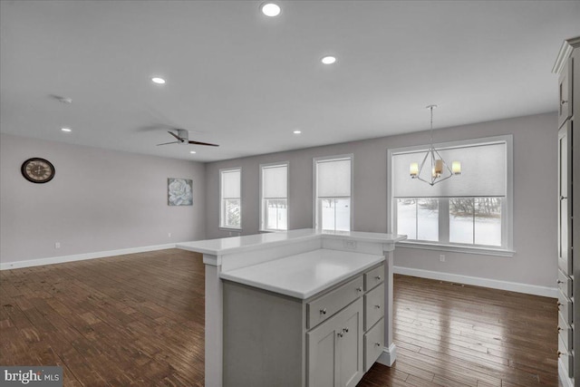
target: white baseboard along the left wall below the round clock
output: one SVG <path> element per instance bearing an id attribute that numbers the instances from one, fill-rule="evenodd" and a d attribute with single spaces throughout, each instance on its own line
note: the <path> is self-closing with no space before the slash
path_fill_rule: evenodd
<path id="1" fill-rule="evenodd" d="M 83 261 L 85 259 L 104 258 L 105 256 L 122 256 L 124 254 L 145 253 L 148 251 L 174 248 L 175 243 L 167 245 L 121 248 L 119 250 L 98 251 L 94 253 L 74 254 L 72 256 L 52 256 L 49 258 L 30 259 L 27 261 L 0 262 L 0 270 L 18 269 L 22 267 L 62 264 L 64 262 Z"/>

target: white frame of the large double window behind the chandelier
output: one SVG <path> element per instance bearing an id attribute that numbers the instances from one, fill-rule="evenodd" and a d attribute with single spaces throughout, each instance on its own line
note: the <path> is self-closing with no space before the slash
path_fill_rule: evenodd
<path id="1" fill-rule="evenodd" d="M 462 245 L 462 244 L 452 244 L 452 243 L 441 243 L 441 242 L 430 242 L 430 241 L 418 241 L 418 240 L 403 240 L 398 243 L 400 247 L 411 247 L 411 248 L 422 248 L 427 250 L 437 250 L 437 251 L 451 251 L 459 253 L 469 253 L 469 254 L 480 254 L 487 256 L 514 256 L 516 253 L 513 249 L 513 235 L 514 235 L 514 162 L 513 162 L 513 136 L 503 135 L 494 136 L 487 138 L 471 139 L 471 140 L 458 140 L 458 141 L 448 141 L 434 144 L 435 148 L 445 149 L 445 148 L 463 148 L 474 145 L 483 145 L 486 143 L 493 142 L 505 142 L 506 143 L 506 197 L 502 202 L 501 208 L 501 232 L 502 232 L 502 247 L 488 247 L 480 245 Z M 397 206 L 395 205 L 393 199 L 393 188 L 392 188 L 392 176 L 394 171 L 392 170 L 392 157 L 395 154 L 427 150 L 429 145 L 419 145 L 412 147 L 404 147 L 397 149 L 387 150 L 387 208 L 389 209 L 387 216 L 387 232 L 395 234 L 397 232 L 396 219 L 397 219 Z M 411 179 L 411 177 L 409 178 Z M 453 179 L 453 178 L 451 178 Z M 427 184 L 427 183 L 425 183 Z M 444 182 L 441 184 L 445 184 Z M 443 203 L 443 206 L 441 206 Z M 440 199 L 440 209 L 439 209 L 439 224 L 444 224 L 447 222 L 449 224 L 449 198 Z M 444 231 L 441 233 L 441 231 Z M 441 235 L 446 240 L 449 240 L 449 229 L 447 227 L 439 228 L 440 240 Z"/>

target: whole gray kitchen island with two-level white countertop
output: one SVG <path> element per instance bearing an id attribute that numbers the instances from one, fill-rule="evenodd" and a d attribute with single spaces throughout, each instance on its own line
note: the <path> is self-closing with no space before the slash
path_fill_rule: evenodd
<path id="1" fill-rule="evenodd" d="M 206 265 L 206 386 L 355 385 L 391 365 L 404 236 L 300 229 L 178 244 Z"/>

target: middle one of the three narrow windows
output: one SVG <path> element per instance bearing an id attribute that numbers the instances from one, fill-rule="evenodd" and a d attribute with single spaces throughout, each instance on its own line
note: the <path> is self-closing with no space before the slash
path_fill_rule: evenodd
<path id="1" fill-rule="evenodd" d="M 288 229 L 288 163 L 260 166 L 260 229 Z"/>

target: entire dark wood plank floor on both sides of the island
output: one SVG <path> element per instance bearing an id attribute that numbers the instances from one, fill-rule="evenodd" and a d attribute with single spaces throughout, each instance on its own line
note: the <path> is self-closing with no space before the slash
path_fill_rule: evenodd
<path id="1" fill-rule="evenodd" d="M 397 362 L 360 387 L 557 386 L 556 300 L 395 277 Z M 204 268 L 177 249 L 0 272 L 0 364 L 203 386 Z"/>

